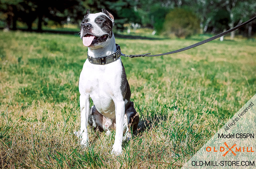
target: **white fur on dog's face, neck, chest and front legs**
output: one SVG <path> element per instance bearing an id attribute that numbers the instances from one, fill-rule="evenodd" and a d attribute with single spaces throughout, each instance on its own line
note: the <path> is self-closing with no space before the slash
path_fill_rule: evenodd
<path id="1" fill-rule="evenodd" d="M 98 31 L 98 34 L 101 34 L 102 30 L 97 28 L 93 23 L 95 17 L 98 15 L 102 15 L 102 13 L 90 14 L 89 18 L 90 23 L 94 25 L 95 32 Z M 116 52 L 115 44 L 116 43 L 113 35 L 112 38 L 102 42 L 97 46 L 97 48 L 89 47 L 88 54 L 89 56 L 95 58 L 111 55 Z M 91 64 L 87 59 L 83 65 L 83 70 L 79 79 L 81 144 L 88 144 L 87 124 L 91 98 L 99 113 L 110 119 L 116 118 L 116 135 L 112 149 L 112 153 L 116 155 L 122 152 L 125 114 L 125 101 L 123 100 L 120 89 L 121 71 L 121 58 L 117 59 L 115 62 L 105 65 Z"/>

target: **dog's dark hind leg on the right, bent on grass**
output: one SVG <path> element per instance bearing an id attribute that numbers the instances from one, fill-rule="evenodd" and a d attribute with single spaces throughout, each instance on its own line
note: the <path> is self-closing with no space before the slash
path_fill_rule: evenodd
<path id="1" fill-rule="evenodd" d="M 130 102 L 127 106 L 127 109 L 125 110 L 124 115 L 124 137 L 123 140 L 131 139 L 132 134 L 137 129 L 137 126 L 139 124 L 139 115 L 134 109 L 133 102 Z M 131 132 L 132 131 L 132 132 Z"/>

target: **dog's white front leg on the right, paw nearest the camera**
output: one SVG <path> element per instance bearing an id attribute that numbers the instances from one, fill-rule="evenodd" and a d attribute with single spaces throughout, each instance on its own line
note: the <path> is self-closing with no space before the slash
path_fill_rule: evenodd
<path id="1" fill-rule="evenodd" d="M 112 153 L 119 155 L 122 153 L 125 102 L 121 100 L 121 101 L 116 101 L 114 103 L 115 103 L 115 111 L 116 111 L 116 136 L 115 136 Z"/>

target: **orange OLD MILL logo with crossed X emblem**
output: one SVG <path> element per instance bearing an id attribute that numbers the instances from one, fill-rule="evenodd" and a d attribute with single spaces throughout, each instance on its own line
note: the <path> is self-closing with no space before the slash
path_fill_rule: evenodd
<path id="1" fill-rule="evenodd" d="M 224 145 L 227 147 L 226 148 L 226 152 L 223 154 L 223 157 L 225 157 L 227 155 L 227 153 L 231 152 L 234 156 L 236 156 L 237 154 L 235 152 L 254 152 L 252 150 L 252 147 L 236 147 L 236 144 L 234 144 L 233 146 L 231 146 L 229 148 L 229 146 L 227 145 L 226 142 L 224 142 Z M 233 148 L 236 147 L 236 149 L 234 150 Z M 233 149 L 233 150 L 232 150 Z M 212 148 L 211 147 L 207 147 L 206 151 L 207 152 L 211 152 Z M 219 147 L 219 152 L 224 152 L 225 148 L 224 147 Z M 213 147 L 213 152 L 218 152 L 218 149 L 215 149 L 215 147 Z"/>

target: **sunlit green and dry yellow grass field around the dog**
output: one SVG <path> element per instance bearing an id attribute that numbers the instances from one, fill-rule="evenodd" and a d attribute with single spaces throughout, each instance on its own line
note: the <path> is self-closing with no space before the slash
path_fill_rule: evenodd
<path id="1" fill-rule="evenodd" d="M 116 42 L 125 54 L 158 54 L 203 38 Z M 86 149 L 73 134 L 86 51 L 79 36 L 0 32 L 0 168 L 180 168 L 256 93 L 252 40 L 122 58 L 140 129 L 114 157 L 114 132 L 89 130 Z"/>

